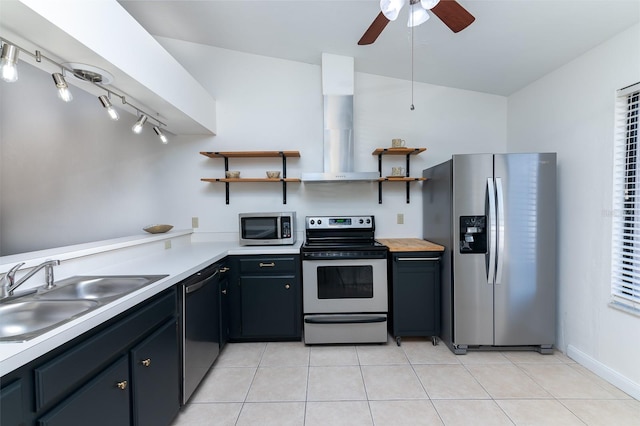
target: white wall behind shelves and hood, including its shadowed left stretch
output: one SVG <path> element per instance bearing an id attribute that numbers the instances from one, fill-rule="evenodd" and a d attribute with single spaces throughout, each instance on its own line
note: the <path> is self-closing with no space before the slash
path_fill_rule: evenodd
<path id="1" fill-rule="evenodd" d="M 0 85 L 0 253 L 135 234 L 149 223 L 184 229 L 192 217 L 198 231 L 236 232 L 243 211 L 294 210 L 300 226 L 308 214 L 375 214 L 379 237 L 422 236 L 420 183 L 410 204 L 404 184 L 385 184 L 378 204 L 377 183 L 294 183 L 286 205 L 279 184 L 231 184 L 225 205 L 223 184 L 200 181 L 222 177 L 224 162 L 200 151 L 298 150 L 290 177 L 322 169 L 320 67 L 160 41 L 217 99 L 218 136 L 172 136 L 161 145 L 150 127 L 133 135 L 129 114 L 106 119 L 81 90 L 60 102 L 51 76 L 21 66 L 18 83 Z M 412 158 L 413 176 L 453 153 L 506 148 L 504 97 L 416 83 L 410 111 L 410 82 L 360 73 L 355 80 L 356 170 L 377 170 L 371 153 L 396 137 L 427 148 Z M 278 159 L 230 161 L 245 177 L 281 167 Z M 385 157 L 383 173 L 403 164 Z"/>

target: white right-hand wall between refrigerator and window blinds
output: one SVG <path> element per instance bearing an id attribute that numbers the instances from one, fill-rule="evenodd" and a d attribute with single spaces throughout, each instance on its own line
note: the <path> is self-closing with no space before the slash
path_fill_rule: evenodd
<path id="1" fill-rule="evenodd" d="M 640 397 L 640 317 L 608 307 L 616 89 L 640 80 L 640 26 L 508 100 L 510 151 L 558 153 L 559 344 Z"/>

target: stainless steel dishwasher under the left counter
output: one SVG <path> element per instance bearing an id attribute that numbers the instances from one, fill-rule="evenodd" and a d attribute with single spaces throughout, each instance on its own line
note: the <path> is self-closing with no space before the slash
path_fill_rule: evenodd
<path id="1" fill-rule="evenodd" d="M 220 283 L 227 270 L 215 263 L 181 282 L 182 404 L 220 353 Z"/>

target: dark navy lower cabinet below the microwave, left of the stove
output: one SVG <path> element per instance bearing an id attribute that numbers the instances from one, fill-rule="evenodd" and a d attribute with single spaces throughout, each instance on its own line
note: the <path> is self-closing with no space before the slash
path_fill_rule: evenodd
<path id="1" fill-rule="evenodd" d="M 300 340 L 300 256 L 233 256 L 229 339 Z"/>

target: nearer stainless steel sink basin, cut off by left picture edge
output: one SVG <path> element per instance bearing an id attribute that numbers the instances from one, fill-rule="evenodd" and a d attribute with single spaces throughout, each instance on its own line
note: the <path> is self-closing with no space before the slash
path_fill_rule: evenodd
<path id="1" fill-rule="evenodd" d="M 95 300 L 28 300 L 0 304 L 0 341 L 24 341 L 97 308 Z"/>

